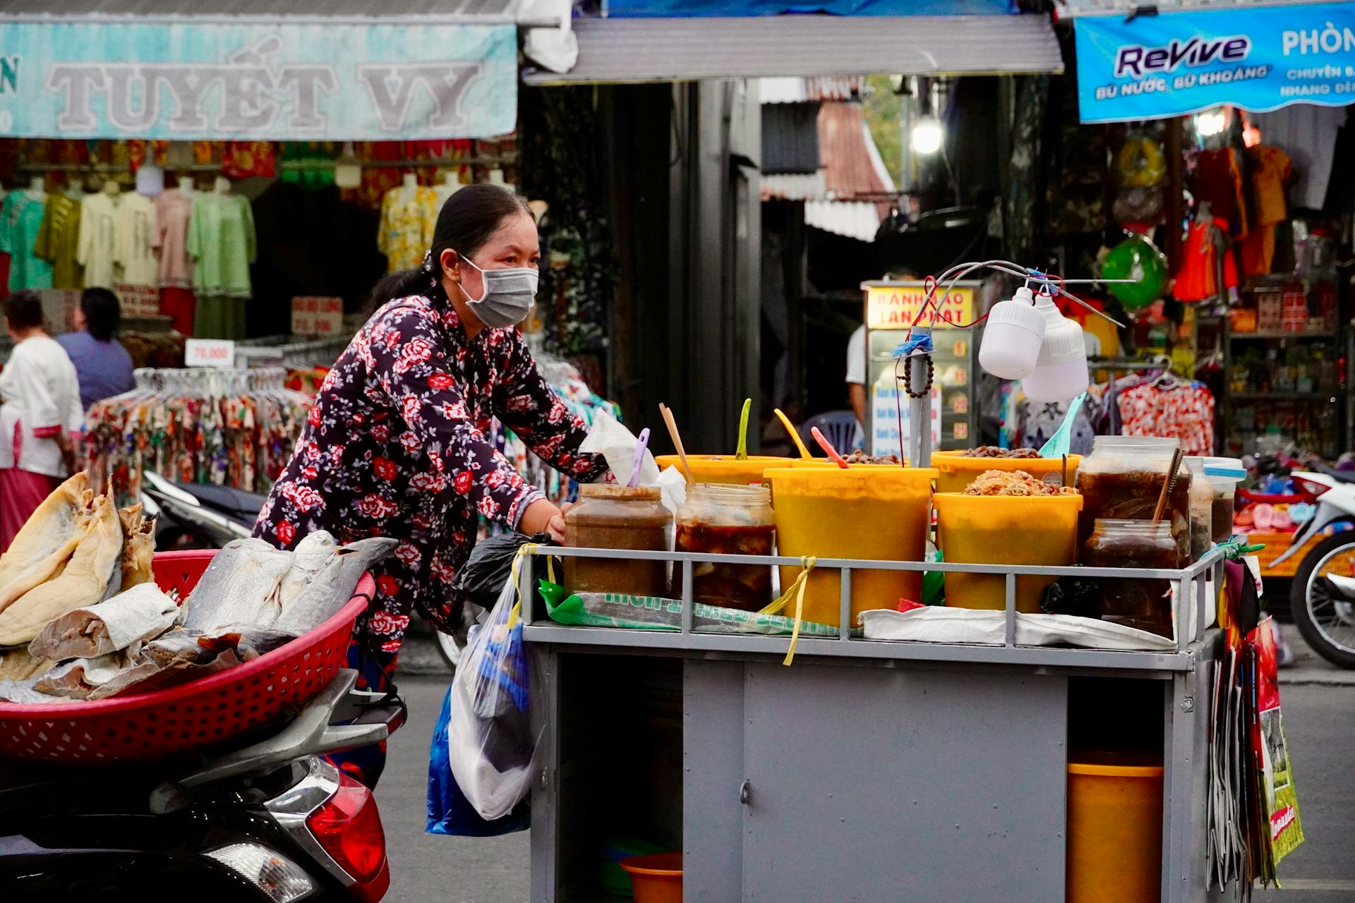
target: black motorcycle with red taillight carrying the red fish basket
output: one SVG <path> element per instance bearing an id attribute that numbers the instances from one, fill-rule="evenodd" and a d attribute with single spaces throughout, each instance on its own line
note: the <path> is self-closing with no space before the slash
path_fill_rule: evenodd
<path id="1" fill-rule="evenodd" d="M 283 728 L 175 761 L 0 762 L 0 899 L 379 900 L 390 885 L 371 792 L 324 755 L 379 743 L 394 695 L 340 670 Z"/>

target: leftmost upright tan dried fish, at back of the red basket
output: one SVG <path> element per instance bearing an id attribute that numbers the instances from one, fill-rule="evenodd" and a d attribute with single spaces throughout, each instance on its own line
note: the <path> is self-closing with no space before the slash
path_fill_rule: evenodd
<path id="1" fill-rule="evenodd" d="M 57 574 L 84 535 L 88 478 L 80 472 L 38 505 L 0 555 L 0 612 Z"/>

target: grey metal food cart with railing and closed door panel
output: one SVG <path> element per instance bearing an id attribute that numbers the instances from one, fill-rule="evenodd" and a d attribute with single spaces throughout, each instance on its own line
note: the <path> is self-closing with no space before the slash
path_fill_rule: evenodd
<path id="1" fill-rule="evenodd" d="M 692 562 L 799 563 L 625 556 L 675 562 L 686 588 Z M 1202 624 L 1220 552 L 1184 571 L 818 567 L 844 574 L 843 624 L 852 570 L 1008 574 L 1007 643 L 879 642 L 843 628 L 840 639 L 801 638 L 785 666 L 787 638 L 691 632 L 690 589 L 682 632 L 566 627 L 524 605 L 543 728 L 534 902 L 611 899 L 598 889 L 599 849 L 638 824 L 680 838 L 690 902 L 1062 900 L 1068 753 L 1088 707 L 1100 726 L 1123 723 L 1160 749 L 1161 899 L 1211 899 L 1206 750 L 1218 631 L 1196 628 L 1161 653 L 1019 647 L 1012 638 L 1016 574 L 1169 577 L 1176 623 L 1187 623 L 1182 600 L 1194 600 Z M 533 567 L 522 570 L 531 586 Z"/>

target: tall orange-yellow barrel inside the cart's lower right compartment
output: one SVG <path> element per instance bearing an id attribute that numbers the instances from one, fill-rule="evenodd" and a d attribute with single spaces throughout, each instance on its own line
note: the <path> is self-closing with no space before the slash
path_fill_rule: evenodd
<path id="1" fill-rule="evenodd" d="M 1160 765 L 1068 764 L 1065 883 L 1066 903 L 1161 900 Z"/>

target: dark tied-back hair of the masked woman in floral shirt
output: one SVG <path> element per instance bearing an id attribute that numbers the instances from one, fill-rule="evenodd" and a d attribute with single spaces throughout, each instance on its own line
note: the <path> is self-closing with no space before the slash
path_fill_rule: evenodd
<path id="1" fill-rule="evenodd" d="M 438 214 L 430 248 L 432 269 L 402 269 L 383 276 L 371 290 L 371 310 L 394 298 L 427 294 L 430 282 L 442 273 L 443 250 L 451 248 L 461 257 L 474 257 L 505 219 L 523 213 L 531 215 L 527 200 L 507 188 L 488 183 L 461 188 Z"/>

